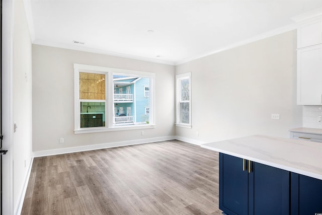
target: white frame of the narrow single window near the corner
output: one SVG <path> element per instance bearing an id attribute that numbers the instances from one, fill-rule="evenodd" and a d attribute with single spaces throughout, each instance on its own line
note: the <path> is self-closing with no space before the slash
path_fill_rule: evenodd
<path id="1" fill-rule="evenodd" d="M 181 92 L 180 92 L 180 81 L 184 79 L 189 79 L 189 123 L 180 122 L 180 103 L 181 101 Z M 176 75 L 176 126 L 192 128 L 191 123 L 191 72 Z"/>

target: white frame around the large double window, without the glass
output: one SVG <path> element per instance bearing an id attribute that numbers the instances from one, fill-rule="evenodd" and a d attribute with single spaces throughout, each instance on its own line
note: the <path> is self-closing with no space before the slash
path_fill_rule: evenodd
<path id="1" fill-rule="evenodd" d="M 103 66 L 93 66 L 93 65 L 85 65 L 74 63 L 74 133 L 93 133 L 93 132 L 105 132 L 105 131 L 116 131 L 116 130 L 133 130 L 133 129 L 145 129 L 145 128 L 154 128 L 154 116 L 155 116 L 155 74 L 149 73 L 146 71 L 136 71 L 136 70 L 128 70 L 128 69 L 119 69 L 119 68 L 109 68 Z M 105 74 L 105 92 L 106 92 L 106 100 L 105 100 L 105 126 L 102 127 L 86 127 L 81 128 L 81 108 L 80 108 L 80 100 L 79 100 L 79 73 L 80 72 L 92 72 L 92 73 L 101 73 Z M 114 119 L 114 87 L 113 87 L 113 74 L 125 74 L 132 75 L 136 77 L 149 78 L 150 79 L 150 116 L 149 116 L 149 124 L 134 124 L 134 125 L 124 125 L 124 126 L 115 126 L 113 123 Z M 93 100 L 94 101 L 94 100 Z"/>

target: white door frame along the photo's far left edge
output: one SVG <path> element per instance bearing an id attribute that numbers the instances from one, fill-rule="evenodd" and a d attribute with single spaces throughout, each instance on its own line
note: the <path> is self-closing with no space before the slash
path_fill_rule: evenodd
<path id="1" fill-rule="evenodd" d="M 13 0 L 2 2 L 2 133 L 3 149 L 8 153 L 2 157 L 2 213 L 14 214 L 13 196 Z"/>

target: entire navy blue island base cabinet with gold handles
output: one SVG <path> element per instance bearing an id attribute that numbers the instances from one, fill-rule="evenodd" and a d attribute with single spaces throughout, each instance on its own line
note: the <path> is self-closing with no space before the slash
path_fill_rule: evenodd
<path id="1" fill-rule="evenodd" d="M 322 180 L 219 153 L 219 209 L 227 215 L 322 214 Z"/>

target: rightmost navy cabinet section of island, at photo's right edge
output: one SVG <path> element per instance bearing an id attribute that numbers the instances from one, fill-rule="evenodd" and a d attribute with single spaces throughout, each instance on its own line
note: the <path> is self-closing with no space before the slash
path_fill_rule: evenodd
<path id="1" fill-rule="evenodd" d="M 292 173 L 291 215 L 322 213 L 322 180 Z"/>

